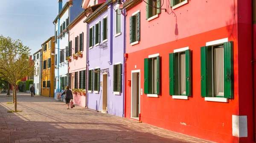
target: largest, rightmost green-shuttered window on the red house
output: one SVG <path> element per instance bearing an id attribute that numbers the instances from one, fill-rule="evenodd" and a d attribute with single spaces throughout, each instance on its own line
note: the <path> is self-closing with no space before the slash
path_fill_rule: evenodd
<path id="1" fill-rule="evenodd" d="M 233 98 L 233 42 L 201 47 L 201 96 Z"/>

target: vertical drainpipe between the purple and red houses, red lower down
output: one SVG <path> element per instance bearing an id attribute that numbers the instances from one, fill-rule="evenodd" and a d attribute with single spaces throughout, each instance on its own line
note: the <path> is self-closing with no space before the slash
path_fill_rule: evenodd
<path id="1" fill-rule="evenodd" d="M 125 54 L 125 45 L 126 45 L 126 40 L 125 40 L 125 31 L 126 31 L 126 28 L 125 28 L 125 26 L 126 26 L 126 16 L 125 16 L 125 13 L 126 13 L 126 11 L 125 11 L 125 8 L 123 9 L 124 11 L 123 11 L 123 13 L 124 13 L 124 54 Z M 125 67 L 124 67 L 124 81 L 123 81 L 123 87 L 124 87 L 124 89 L 125 89 L 125 92 L 124 92 L 124 98 L 123 98 L 123 102 L 124 102 L 124 118 L 126 117 L 126 103 L 125 103 L 125 101 L 126 101 L 126 60 L 127 60 L 127 58 L 125 57 L 124 58 L 124 64 L 125 64 Z"/>

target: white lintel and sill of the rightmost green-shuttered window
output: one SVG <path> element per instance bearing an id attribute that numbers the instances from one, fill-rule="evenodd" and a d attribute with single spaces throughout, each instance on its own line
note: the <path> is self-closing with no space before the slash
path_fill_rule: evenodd
<path id="1" fill-rule="evenodd" d="M 206 42 L 206 46 L 214 46 L 214 45 L 220 45 L 224 42 L 228 42 L 228 38 L 218 39 L 210 42 Z M 224 97 L 204 97 L 205 101 L 214 101 L 214 102 L 228 102 L 227 98 Z"/>

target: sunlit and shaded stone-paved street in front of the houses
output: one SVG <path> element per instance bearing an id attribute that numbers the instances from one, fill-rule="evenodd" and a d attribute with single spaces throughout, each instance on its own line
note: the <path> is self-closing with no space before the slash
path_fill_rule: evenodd
<path id="1" fill-rule="evenodd" d="M 0 143 L 212 143 L 145 123 L 27 93 L 0 94 Z"/>

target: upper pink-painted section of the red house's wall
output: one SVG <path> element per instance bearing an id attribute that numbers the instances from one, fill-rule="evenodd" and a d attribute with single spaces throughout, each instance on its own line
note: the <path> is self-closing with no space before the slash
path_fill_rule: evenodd
<path id="1" fill-rule="evenodd" d="M 175 10 L 170 8 L 169 0 L 164 1 L 158 18 L 146 20 L 146 3 L 139 3 L 127 11 L 126 31 L 129 31 L 129 17 L 140 9 L 141 35 L 140 44 L 129 44 L 129 32 L 126 33 L 126 53 L 131 53 L 156 45 L 172 42 L 192 35 L 204 33 L 217 28 L 233 25 L 234 1 L 233 0 L 188 0 L 189 3 Z M 235 0 L 235 6 L 237 5 Z M 163 1 L 162 1 L 163 2 Z M 236 17 L 237 9 L 235 8 Z M 203 17 L 203 18 L 202 18 Z M 177 23 L 177 28 L 175 25 Z M 237 23 L 237 18 L 235 23 Z M 231 33 L 232 26 L 227 31 Z"/>

